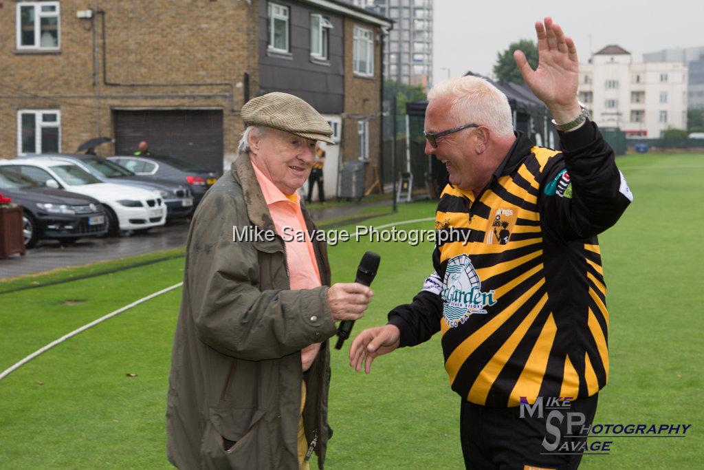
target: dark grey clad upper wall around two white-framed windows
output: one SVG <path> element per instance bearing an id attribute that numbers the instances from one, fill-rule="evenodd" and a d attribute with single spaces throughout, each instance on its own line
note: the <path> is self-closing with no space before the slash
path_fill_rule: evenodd
<path id="1" fill-rule="evenodd" d="M 292 1 L 274 3 L 289 7 L 290 54 L 268 51 L 268 1 L 259 4 L 261 92 L 288 92 L 305 99 L 321 113 L 340 114 L 344 99 L 344 21 L 339 14 Z M 310 14 L 320 13 L 330 20 L 329 60 L 310 56 Z"/>

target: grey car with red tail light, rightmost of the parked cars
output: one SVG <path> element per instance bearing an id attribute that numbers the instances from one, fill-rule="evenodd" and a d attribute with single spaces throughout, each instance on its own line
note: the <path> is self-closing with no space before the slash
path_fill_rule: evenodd
<path id="1" fill-rule="evenodd" d="M 195 163 L 175 159 L 170 156 L 108 156 L 108 160 L 124 166 L 137 175 L 152 176 L 157 179 L 185 181 L 193 193 L 194 206 L 203 199 L 210 186 L 218 180 L 218 173 L 199 168 Z"/>

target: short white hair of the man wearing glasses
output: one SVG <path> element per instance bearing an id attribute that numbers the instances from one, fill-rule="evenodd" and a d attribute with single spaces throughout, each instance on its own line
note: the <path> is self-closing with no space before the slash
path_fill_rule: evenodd
<path id="1" fill-rule="evenodd" d="M 513 114 L 508 98 L 481 77 L 467 75 L 440 82 L 428 92 L 428 99 L 451 97 L 451 113 L 467 120 L 459 124 L 484 125 L 500 137 L 513 135 Z"/>

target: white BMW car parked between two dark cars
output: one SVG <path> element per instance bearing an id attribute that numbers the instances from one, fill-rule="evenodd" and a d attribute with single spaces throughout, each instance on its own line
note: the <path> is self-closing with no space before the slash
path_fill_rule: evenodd
<path id="1" fill-rule="evenodd" d="M 108 216 L 108 233 L 120 230 L 146 232 L 166 223 L 166 205 L 161 194 L 134 186 L 101 183 L 82 168 L 65 161 L 46 159 L 3 160 L 15 173 L 31 178 L 46 187 L 85 194 L 98 199 Z"/>

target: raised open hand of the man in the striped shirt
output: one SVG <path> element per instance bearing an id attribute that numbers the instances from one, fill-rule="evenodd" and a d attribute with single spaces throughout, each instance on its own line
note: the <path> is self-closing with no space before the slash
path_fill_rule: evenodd
<path id="1" fill-rule="evenodd" d="M 513 58 L 523 75 L 526 85 L 548 106 L 558 123 L 567 123 L 581 111 L 577 102 L 579 61 L 577 48 L 571 37 L 549 16 L 544 24 L 535 23 L 538 35 L 538 68 L 533 70 L 522 51 L 515 51 Z"/>

